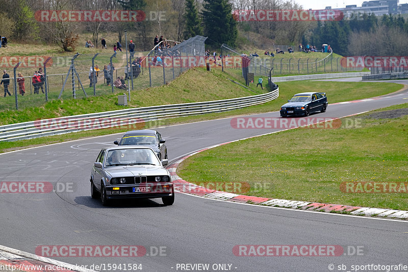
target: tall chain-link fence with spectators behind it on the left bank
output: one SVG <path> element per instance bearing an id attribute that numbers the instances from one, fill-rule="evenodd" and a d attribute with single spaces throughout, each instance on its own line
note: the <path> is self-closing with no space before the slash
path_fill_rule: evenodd
<path id="1" fill-rule="evenodd" d="M 6 93 L 0 100 L 0 110 L 38 107 L 57 99 L 129 94 L 131 90 L 167 84 L 187 69 L 200 65 L 188 58 L 204 58 L 205 40 L 206 37 L 196 36 L 182 43 L 167 42 L 149 52 L 127 52 L 129 59 L 126 48 L 92 55 L 16 57 L 19 65 L 6 68 L 11 95 Z M 126 86 L 117 87 L 118 78 Z"/>

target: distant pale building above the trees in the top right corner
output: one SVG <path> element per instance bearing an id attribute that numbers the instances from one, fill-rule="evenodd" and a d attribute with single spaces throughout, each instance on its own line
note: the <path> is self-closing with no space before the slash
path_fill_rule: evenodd
<path id="1" fill-rule="evenodd" d="M 331 7 L 326 7 L 331 9 Z M 402 4 L 398 6 L 398 0 L 373 0 L 365 1 L 361 7 L 357 5 L 348 5 L 345 8 L 339 8 L 336 10 L 343 11 L 344 17 L 350 18 L 352 14 L 367 13 L 381 16 L 384 14 L 401 14 L 408 13 L 408 4 Z"/>

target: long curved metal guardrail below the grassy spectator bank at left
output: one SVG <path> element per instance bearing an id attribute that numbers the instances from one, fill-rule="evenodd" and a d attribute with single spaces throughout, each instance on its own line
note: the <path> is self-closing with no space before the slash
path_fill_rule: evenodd
<path id="1" fill-rule="evenodd" d="M 137 124 L 141 121 L 146 122 L 188 115 L 235 110 L 266 103 L 274 100 L 278 96 L 279 88 L 264 94 L 231 98 L 227 100 L 132 108 L 14 123 L 11 125 L 0 126 L 0 142 L 87 131 L 96 129 L 95 126 L 98 124 L 99 129 L 112 128 L 120 126 L 121 124 Z M 107 118 L 111 119 L 108 123 L 104 123 Z M 112 122 L 112 120 L 114 121 Z M 81 126 L 79 124 L 81 124 Z M 87 126 L 90 124 L 93 124 L 92 128 Z"/>

